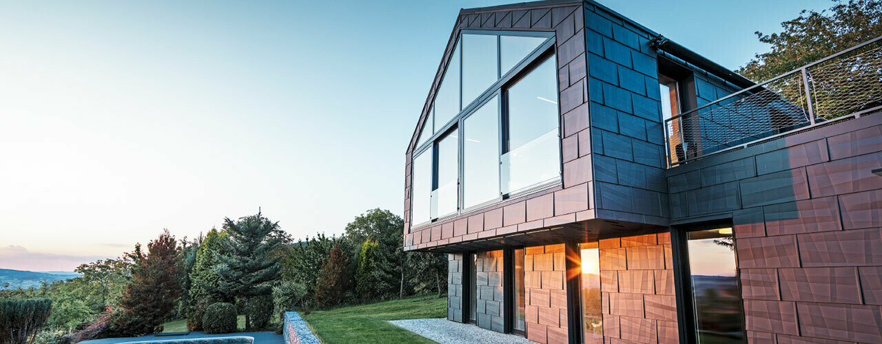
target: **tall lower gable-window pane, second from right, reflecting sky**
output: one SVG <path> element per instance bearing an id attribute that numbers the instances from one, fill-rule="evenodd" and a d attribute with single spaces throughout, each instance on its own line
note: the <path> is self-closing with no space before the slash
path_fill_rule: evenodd
<path id="1" fill-rule="evenodd" d="M 463 208 L 499 198 L 499 118 L 494 97 L 462 125 Z"/>

